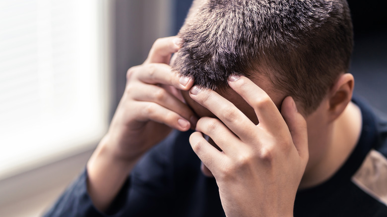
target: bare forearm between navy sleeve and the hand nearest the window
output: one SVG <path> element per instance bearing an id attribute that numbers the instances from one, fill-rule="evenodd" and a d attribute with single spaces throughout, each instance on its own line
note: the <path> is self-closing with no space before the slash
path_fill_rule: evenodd
<path id="1" fill-rule="evenodd" d="M 119 193 L 136 160 L 115 158 L 104 137 L 87 163 L 87 191 L 94 206 L 104 212 Z"/>

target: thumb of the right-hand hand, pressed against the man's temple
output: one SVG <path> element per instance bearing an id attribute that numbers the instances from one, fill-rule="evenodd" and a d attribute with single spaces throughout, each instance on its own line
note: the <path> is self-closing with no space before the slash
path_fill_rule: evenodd
<path id="1" fill-rule="evenodd" d="M 281 112 L 300 157 L 308 161 L 307 124 L 305 118 L 297 111 L 296 104 L 292 97 L 286 97 L 282 102 Z"/>

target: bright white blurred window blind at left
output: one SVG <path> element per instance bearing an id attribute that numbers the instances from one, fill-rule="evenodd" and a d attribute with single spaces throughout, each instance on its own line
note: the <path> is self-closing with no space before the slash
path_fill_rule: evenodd
<path id="1" fill-rule="evenodd" d="M 108 119 L 103 0 L 0 0 L 0 179 L 90 148 Z"/>

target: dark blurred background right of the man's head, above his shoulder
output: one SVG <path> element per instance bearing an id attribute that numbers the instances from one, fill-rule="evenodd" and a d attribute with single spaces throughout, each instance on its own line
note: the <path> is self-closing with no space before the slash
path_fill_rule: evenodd
<path id="1" fill-rule="evenodd" d="M 348 0 L 354 28 L 355 94 L 387 113 L 387 13 L 383 1 Z"/>

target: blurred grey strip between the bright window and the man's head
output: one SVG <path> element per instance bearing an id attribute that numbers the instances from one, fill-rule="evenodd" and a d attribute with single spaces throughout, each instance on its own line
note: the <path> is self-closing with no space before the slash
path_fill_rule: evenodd
<path id="1" fill-rule="evenodd" d="M 174 0 L 116 0 L 115 78 L 112 113 L 122 97 L 127 70 L 141 64 L 157 38 L 171 36 L 174 27 Z"/>

